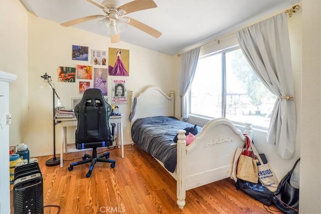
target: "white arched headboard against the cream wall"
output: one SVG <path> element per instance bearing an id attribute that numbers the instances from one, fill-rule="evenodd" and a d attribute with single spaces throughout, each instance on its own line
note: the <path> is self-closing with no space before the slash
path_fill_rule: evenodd
<path id="1" fill-rule="evenodd" d="M 174 91 L 170 96 L 157 86 L 148 86 L 137 96 L 131 91 L 131 108 L 136 97 L 135 114 L 131 120 L 152 116 L 174 116 Z"/>

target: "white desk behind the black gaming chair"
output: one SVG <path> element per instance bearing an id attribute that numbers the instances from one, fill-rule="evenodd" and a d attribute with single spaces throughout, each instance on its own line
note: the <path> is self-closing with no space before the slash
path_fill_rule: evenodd
<path id="1" fill-rule="evenodd" d="M 56 122 L 61 123 L 62 129 L 62 140 L 60 144 L 60 167 L 63 167 L 63 153 L 67 153 L 67 127 L 77 126 L 76 118 L 57 118 Z M 123 142 L 123 127 L 122 127 L 122 115 L 121 116 L 110 116 L 109 123 L 117 123 L 117 128 L 120 129 L 120 146 L 121 146 L 121 158 L 124 158 L 124 142 Z M 118 131 L 117 131 L 118 133 Z M 117 136 L 119 140 L 119 136 Z"/>

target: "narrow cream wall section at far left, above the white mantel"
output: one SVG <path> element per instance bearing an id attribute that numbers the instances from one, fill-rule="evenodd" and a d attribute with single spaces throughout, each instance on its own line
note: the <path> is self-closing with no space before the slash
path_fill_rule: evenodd
<path id="1" fill-rule="evenodd" d="M 16 1 L 0 1 L 0 70 L 17 75 L 10 84 L 10 144 L 25 141 L 28 118 L 28 13 Z"/>

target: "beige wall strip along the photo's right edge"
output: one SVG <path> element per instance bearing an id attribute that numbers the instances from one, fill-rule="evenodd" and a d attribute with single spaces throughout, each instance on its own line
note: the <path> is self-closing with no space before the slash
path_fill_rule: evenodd
<path id="1" fill-rule="evenodd" d="M 321 213 L 321 1 L 302 1 L 300 213 Z"/>

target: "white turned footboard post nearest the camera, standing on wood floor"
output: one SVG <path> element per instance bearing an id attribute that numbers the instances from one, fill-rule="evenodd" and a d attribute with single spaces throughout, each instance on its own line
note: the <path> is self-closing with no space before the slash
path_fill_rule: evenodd
<path id="1" fill-rule="evenodd" d="M 186 141 L 185 141 L 185 130 L 178 130 L 178 141 L 177 141 L 177 181 L 176 181 L 176 194 L 177 204 L 181 209 L 185 206 L 186 197 Z"/>

